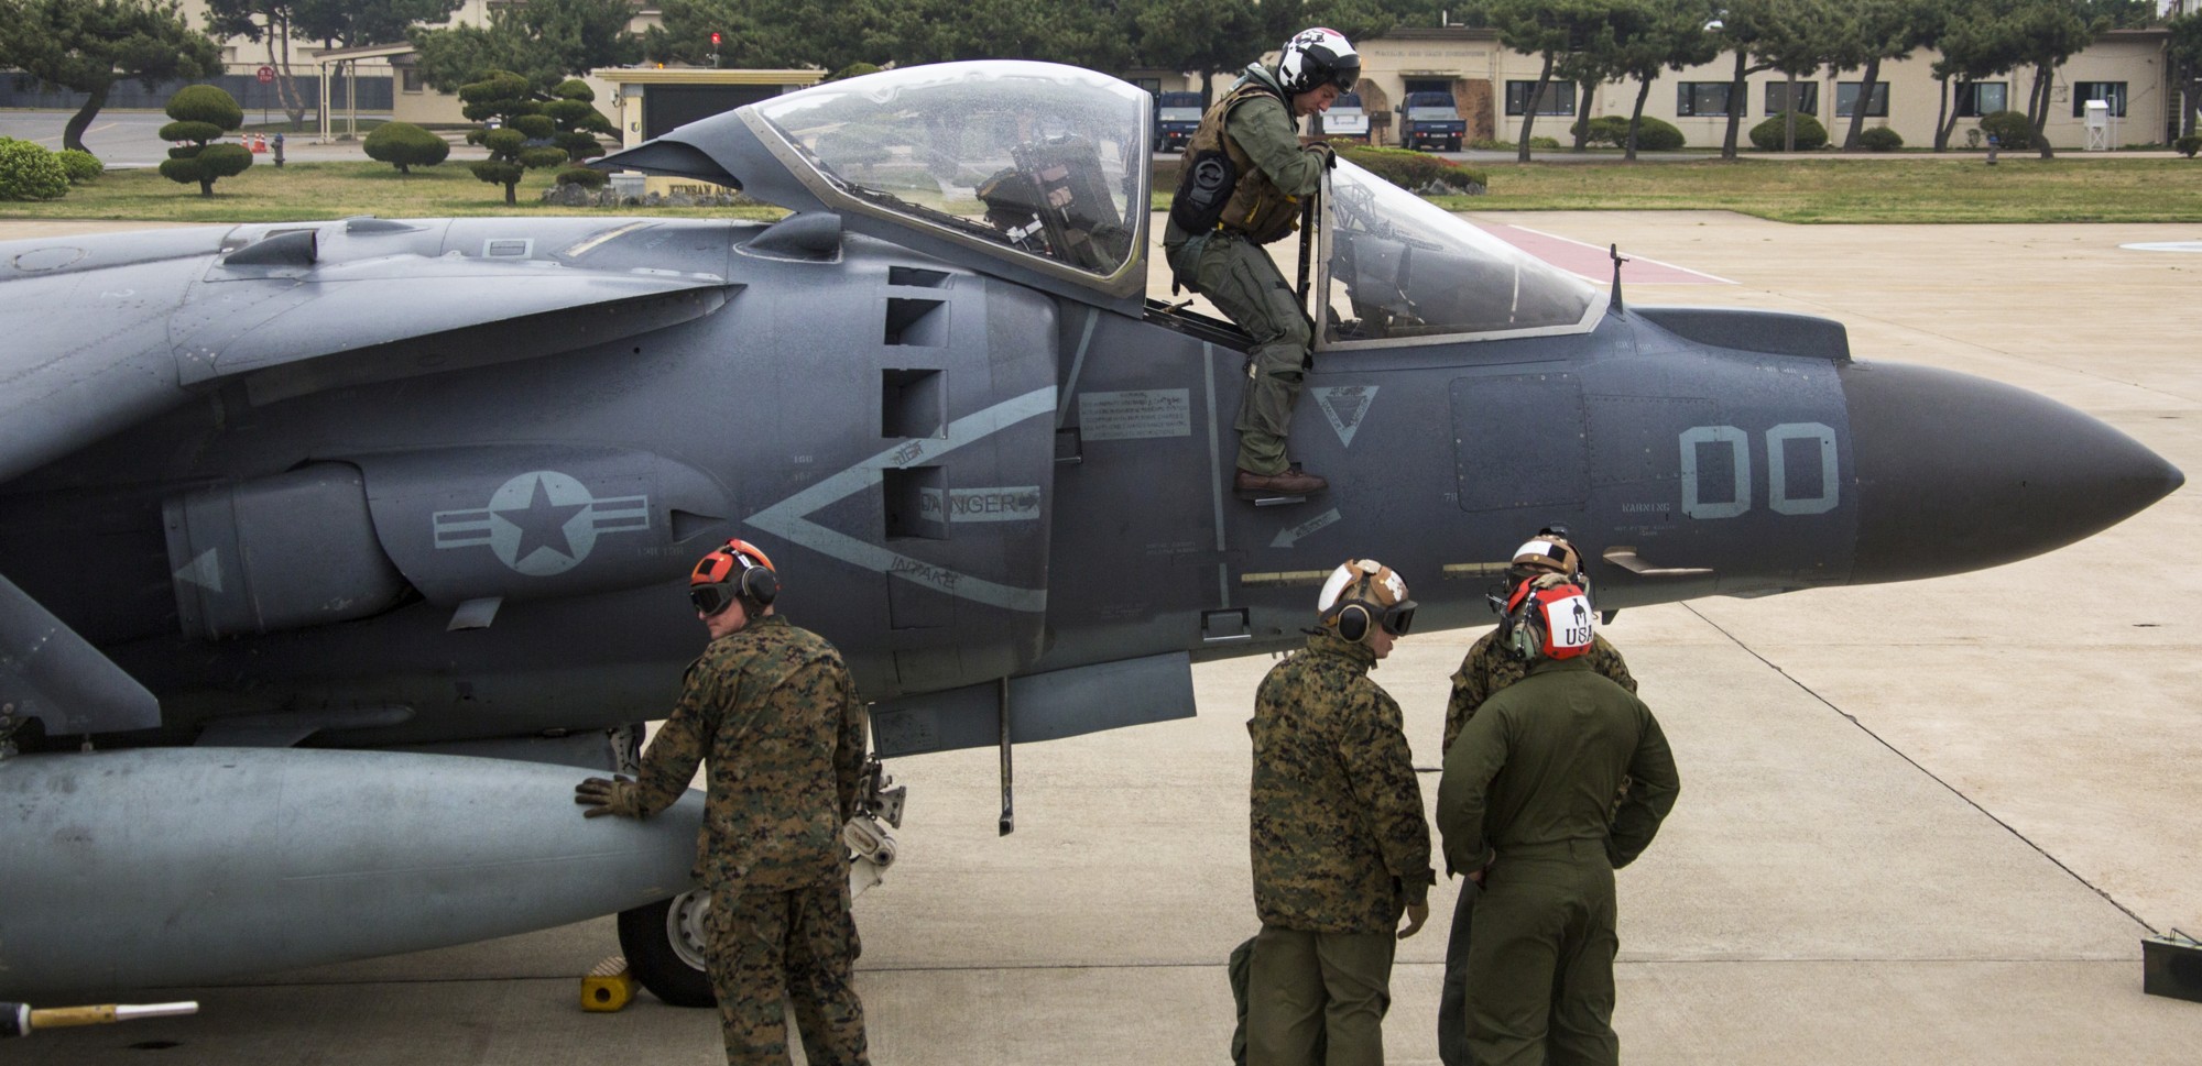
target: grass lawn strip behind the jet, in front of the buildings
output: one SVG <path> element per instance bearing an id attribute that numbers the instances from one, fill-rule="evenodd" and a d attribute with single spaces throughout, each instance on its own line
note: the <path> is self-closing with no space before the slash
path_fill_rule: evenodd
<path id="1" fill-rule="evenodd" d="M 1812 159 L 1737 163 L 1491 163 L 1489 196 L 1445 196 L 1456 211 L 1726 209 L 1779 222 L 2202 222 L 2202 161 L 2191 159 Z M 59 200 L 0 200 L 0 218 L 119 218 L 165 222 L 297 222 L 372 214 L 443 218 L 586 214 L 544 207 L 550 172 L 520 183 L 520 205 L 465 163 L 399 174 L 385 163 L 264 161 L 198 196 L 152 170 L 121 170 Z M 1169 205 L 1169 189 L 1156 207 Z M 766 207 L 601 207 L 601 214 L 775 216 Z"/>

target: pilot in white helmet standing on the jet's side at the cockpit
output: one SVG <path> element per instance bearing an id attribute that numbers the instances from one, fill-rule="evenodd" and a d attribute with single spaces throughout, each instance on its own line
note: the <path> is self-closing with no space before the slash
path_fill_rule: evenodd
<path id="1" fill-rule="evenodd" d="M 1328 489 L 1323 478 L 1284 458 L 1312 326 L 1262 244 L 1299 227 L 1304 198 L 1321 189 L 1334 161 L 1328 143 L 1301 148 L 1299 117 L 1330 110 L 1359 77 L 1361 57 L 1343 35 L 1306 29 L 1284 44 L 1275 68 L 1249 64 L 1185 145 L 1163 251 L 1178 284 L 1209 297 L 1255 341 L 1235 423 L 1240 493 Z"/>

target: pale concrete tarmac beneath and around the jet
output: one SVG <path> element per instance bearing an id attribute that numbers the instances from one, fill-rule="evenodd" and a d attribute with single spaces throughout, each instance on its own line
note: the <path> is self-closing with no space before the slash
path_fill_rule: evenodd
<path id="1" fill-rule="evenodd" d="M 1803 311 L 1854 355 L 2010 381 L 2202 471 L 2202 225 L 1795 227 L 1729 214 L 1489 214 L 1735 284 L 1629 304 Z M 81 222 L 77 225 L 81 227 Z M 29 236 L 0 225 L 0 238 Z M 1933 463 L 1933 456 L 1920 456 Z M 1627 610 L 1682 769 L 1621 885 L 1616 1029 L 1652 1064 L 2193 1064 L 2202 1004 L 2143 996 L 2140 945 L 2202 932 L 2202 504 L 1940 581 Z M 1416 581 L 1416 575 L 1405 575 Z M 1431 579 L 1431 577 L 1420 577 Z M 1400 641 L 1376 681 L 1436 766 L 1475 630 Z M 901 859 L 857 903 L 872 1059 L 1213 1064 L 1224 956 L 1253 934 L 1244 720 L 1268 659 L 1196 667 L 1200 716 L 1015 753 L 898 760 Z M 1436 775 L 1425 775 L 1425 802 Z M 1436 1062 L 1453 885 L 1405 940 L 1394 1062 Z M 577 1009 L 610 918 L 295 973 L 196 1018 L 42 1033 L 11 1064 L 720 1059 L 713 1011 Z M 159 1053 L 150 1048 L 159 1046 Z"/>

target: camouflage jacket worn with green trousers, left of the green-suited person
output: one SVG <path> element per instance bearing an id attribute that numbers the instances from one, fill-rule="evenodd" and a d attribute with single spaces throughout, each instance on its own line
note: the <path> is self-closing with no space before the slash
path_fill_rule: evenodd
<path id="1" fill-rule="evenodd" d="M 1255 694 L 1251 850 L 1264 925 L 1392 932 L 1436 881 L 1407 733 L 1398 703 L 1367 676 L 1374 663 L 1367 645 L 1312 634 Z"/>

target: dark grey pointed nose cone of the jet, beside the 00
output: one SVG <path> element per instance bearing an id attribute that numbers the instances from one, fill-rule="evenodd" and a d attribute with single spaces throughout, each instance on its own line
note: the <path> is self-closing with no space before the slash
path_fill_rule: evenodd
<path id="1" fill-rule="evenodd" d="M 1854 584 L 1980 570 L 2110 529 L 2187 476 L 2021 388 L 1903 363 L 1841 370 L 1858 485 Z"/>

